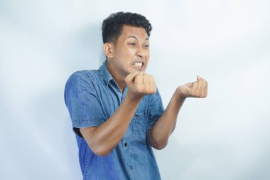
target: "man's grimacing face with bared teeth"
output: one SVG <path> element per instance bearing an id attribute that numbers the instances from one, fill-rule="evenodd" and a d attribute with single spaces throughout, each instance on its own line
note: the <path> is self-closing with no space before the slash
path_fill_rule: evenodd
<path id="1" fill-rule="evenodd" d="M 149 59 L 149 39 L 144 28 L 126 26 L 114 43 L 110 66 L 114 73 L 125 78 L 136 71 L 144 73 Z"/>

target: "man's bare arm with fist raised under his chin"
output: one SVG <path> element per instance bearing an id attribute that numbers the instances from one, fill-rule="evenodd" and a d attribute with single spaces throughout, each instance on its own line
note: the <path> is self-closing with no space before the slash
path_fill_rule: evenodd
<path id="1" fill-rule="evenodd" d="M 144 95 L 156 92 L 156 83 L 151 75 L 132 73 L 125 81 L 129 91 L 112 117 L 99 127 L 80 128 L 87 144 L 99 156 L 109 155 L 119 144 Z"/>

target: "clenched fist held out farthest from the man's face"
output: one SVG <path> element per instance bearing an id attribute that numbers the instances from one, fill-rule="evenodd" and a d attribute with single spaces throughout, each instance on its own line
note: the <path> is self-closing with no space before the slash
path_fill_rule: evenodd
<path id="1" fill-rule="evenodd" d="M 204 98 L 207 96 L 207 87 L 207 81 L 200 76 L 197 76 L 197 81 L 185 85 L 180 85 L 177 88 L 177 91 L 180 97 Z"/>

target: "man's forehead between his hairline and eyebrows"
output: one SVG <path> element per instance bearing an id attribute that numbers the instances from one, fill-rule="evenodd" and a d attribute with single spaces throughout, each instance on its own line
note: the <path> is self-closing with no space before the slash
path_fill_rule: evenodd
<path id="1" fill-rule="evenodd" d="M 144 28 L 124 25 L 119 38 L 127 38 L 129 36 L 135 36 L 136 38 L 141 38 L 144 40 L 148 38 L 148 35 Z"/>

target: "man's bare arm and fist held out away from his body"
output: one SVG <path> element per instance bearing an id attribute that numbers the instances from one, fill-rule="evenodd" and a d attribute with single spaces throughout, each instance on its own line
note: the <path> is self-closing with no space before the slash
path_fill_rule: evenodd
<path id="1" fill-rule="evenodd" d="M 163 149 L 168 143 L 168 137 L 175 129 L 177 116 L 186 97 L 206 97 L 207 81 L 197 77 L 197 81 L 179 86 L 171 98 L 163 115 L 152 129 L 148 131 L 148 140 L 155 149 Z"/>

